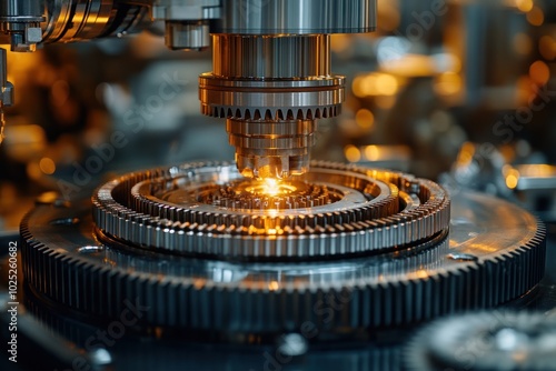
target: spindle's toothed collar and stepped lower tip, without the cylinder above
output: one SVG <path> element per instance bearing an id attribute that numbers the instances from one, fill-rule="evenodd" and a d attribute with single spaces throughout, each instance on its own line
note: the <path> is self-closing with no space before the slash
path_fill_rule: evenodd
<path id="1" fill-rule="evenodd" d="M 202 113 L 228 119 L 229 142 L 236 147 L 236 162 L 244 176 L 286 179 L 309 169 L 315 120 L 339 114 L 344 81 L 338 76 L 255 80 L 205 73 L 199 78 L 199 97 Z M 309 121 L 310 132 L 287 133 L 288 127 L 304 127 Z M 237 133 L 235 128 L 241 126 L 252 132 Z M 274 132 L 258 134 L 268 129 Z"/>

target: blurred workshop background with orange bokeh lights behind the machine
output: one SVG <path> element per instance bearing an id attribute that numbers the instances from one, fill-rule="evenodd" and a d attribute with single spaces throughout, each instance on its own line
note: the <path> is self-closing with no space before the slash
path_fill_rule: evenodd
<path id="1" fill-rule="evenodd" d="M 556 220 L 556 3 L 379 0 L 373 34 L 334 36 L 344 112 L 312 158 L 480 190 Z M 207 52 L 172 52 L 155 27 L 125 39 L 9 53 L 17 104 L 0 146 L 0 233 L 39 194 L 88 197 L 115 174 L 231 160 L 224 120 L 200 114 Z"/>

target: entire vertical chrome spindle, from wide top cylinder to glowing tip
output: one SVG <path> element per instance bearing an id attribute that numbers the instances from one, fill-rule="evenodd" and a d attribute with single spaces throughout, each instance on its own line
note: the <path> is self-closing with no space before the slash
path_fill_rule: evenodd
<path id="1" fill-rule="evenodd" d="M 331 73 L 329 34 L 373 31 L 376 0 L 224 0 L 221 7 L 212 72 L 199 78 L 201 110 L 228 119 L 241 174 L 302 174 L 316 119 L 338 114 L 345 97 L 345 78 Z"/>

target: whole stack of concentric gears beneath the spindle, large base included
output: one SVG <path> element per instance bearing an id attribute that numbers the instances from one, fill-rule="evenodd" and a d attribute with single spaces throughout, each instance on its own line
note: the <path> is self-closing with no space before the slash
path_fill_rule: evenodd
<path id="1" fill-rule="evenodd" d="M 24 278 L 95 318 L 137 298 L 141 324 L 251 339 L 365 337 L 505 303 L 544 274 L 543 225 L 502 200 L 458 194 L 448 225 L 446 192 L 407 174 L 314 163 L 274 194 L 259 187 L 193 163 L 107 183 L 95 220 L 89 201 L 38 205 Z"/>

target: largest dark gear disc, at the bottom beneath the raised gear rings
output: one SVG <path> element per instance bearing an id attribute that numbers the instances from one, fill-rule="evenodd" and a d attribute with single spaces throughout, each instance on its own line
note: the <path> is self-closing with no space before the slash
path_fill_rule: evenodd
<path id="1" fill-rule="evenodd" d="M 515 205 L 476 194 L 455 199 L 449 247 L 438 237 L 400 252 L 307 262 L 193 259 L 102 244 L 91 233 L 89 208 L 39 205 L 26 217 L 26 280 L 39 297 L 98 318 L 118 318 L 125 301 L 135 300 L 149 307 L 147 325 L 224 334 L 302 333 L 309 325 L 365 334 L 505 303 L 544 274 L 543 225 Z"/>

